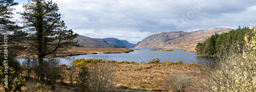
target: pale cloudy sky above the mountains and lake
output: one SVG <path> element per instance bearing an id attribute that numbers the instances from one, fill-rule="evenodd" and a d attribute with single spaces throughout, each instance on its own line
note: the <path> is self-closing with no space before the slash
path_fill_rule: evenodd
<path id="1" fill-rule="evenodd" d="M 256 25 L 255 0 L 52 0 L 68 29 L 91 38 L 136 44 L 162 32 Z M 17 0 L 14 12 L 27 0 Z M 14 20 L 22 21 L 20 15 Z M 20 24 L 22 25 L 22 24 Z"/>

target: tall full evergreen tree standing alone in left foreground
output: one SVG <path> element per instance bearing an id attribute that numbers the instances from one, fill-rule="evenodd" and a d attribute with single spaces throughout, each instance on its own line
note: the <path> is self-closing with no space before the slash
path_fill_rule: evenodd
<path id="1" fill-rule="evenodd" d="M 24 4 L 24 12 L 19 14 L 24 19 L 23 24 L 31 31 L 29 35 L 29 51 L 38 56 L 39 67 L 44 67 L 44 57 L 54 55 L 57 50 L 63 51 L 71 48 L 75 42 L 71 41 L 77 34 L 71 29 L 67 30 L 64 21 L 60 20 L 58 6 L 52 1 L 31 0 Z M 44 74 L 40 74 L 44 81 Z"/>

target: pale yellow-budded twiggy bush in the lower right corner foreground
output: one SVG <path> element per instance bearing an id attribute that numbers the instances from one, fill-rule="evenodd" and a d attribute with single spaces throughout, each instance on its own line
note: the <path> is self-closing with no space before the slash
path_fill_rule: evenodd
<path id="1" fill-rule="evenodd" d="M 256 29 L 253 29 L 251 40 L 244 37 L 243 53 L 222 52 L 224 55 L 218 58 L 218 62 L 208 63 L 209 68 L 201 68 L 203 90 L 256 91 Z"/>

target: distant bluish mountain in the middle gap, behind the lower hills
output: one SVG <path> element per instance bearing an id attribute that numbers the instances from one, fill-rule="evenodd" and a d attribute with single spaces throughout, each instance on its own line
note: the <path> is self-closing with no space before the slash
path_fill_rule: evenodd
<path id="1" fill-rule="evenodd" d="M 126 40 L 118 40 L 116 38 L 104 38 L 106 42 L 110 43 L 111 45 L 119 45 L 119 46 L 124 46 L 126 48 L 134 48 L 136 44 L 129 43 Z"/>

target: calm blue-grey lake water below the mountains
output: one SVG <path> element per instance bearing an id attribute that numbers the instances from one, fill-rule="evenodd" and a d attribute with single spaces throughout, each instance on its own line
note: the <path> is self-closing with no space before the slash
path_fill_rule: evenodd
<path id="1" fill-rule="evenodd" d="M 197 62 L 199 57 L 195 56 L 194 52 L 187 52 L 182 51 L 182 49 L 173 49 L 174 51 L 150 51 L 149 48 L 141 48 L 141 50 L 134 50 L 134 52 L 130 53 L 111 53 L 111 54 L 87 54 L 87 55 L 76 55 L 76 56 L 69 56 L 74 57 L 74 59 L 80 58 L 98 58 L 102 56 L 108 56 L 111 60 L 116 60 L 117 62 L 122 62 L 127 60 L 129 62 L 150 62 L 153 58 L 159 58 L 160 62 L 178 62 L 182 61 L 183 64 Z M 24 58 L 18 58 L 19 61 L 24 60 Z M 61 64 L 69 65 L 69 60 L 61 58 Z M 193 61 L 193 62 L 192 62 Z"/>

